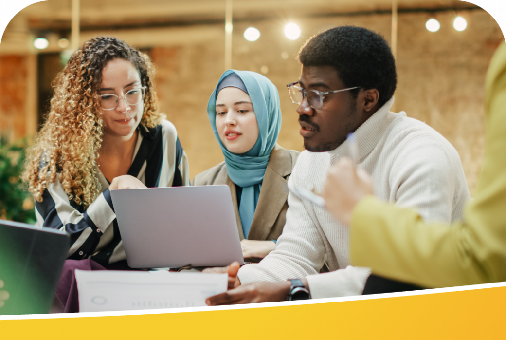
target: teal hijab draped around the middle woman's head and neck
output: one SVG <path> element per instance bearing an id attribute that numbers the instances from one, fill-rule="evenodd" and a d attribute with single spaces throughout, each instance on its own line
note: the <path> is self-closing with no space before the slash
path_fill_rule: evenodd
<path id="1" fill-rule="evenodd" d="M 223 145 L 216 129 L 216 97 L 221 82 L 231 73 L 236 73 L 242 80 L 246 92 L 251 98 L 253 109 L 257 117 L 259 135 L 255 145 L 244 154 L 233 154 Z M 241 217 L 242 231 L 247 238 L 251 221 L 257 208 L 258 198 L 265 170 L 271 151 L 278 139 L 281 129 L 281 108 L 279 107 L 278 90 L 262 74 L 251 71 L 237 71 L 229 69 L 222 74 L 215 90 L 207 103 L 207 116 L 220 143 L 227 173 L 230 179 L 242 187 L 239 215 Z"/>

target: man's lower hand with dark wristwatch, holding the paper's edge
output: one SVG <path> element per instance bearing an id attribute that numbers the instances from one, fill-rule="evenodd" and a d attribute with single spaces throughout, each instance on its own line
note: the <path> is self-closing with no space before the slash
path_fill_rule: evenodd
<path id="1" fill-rule="evenodd" d="M 208 297 L 205 303 L 207 306 L 222 306 L 285 301 L 290 287 L 290 281 L 252 282 L 241 285 L 225 293 Z"/>

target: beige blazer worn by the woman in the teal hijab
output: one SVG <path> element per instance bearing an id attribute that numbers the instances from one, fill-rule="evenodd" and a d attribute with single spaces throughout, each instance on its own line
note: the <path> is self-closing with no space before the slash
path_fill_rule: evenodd
<path id="1" fill-rule="evenodd" d="M 276 144 L 271 152 L 269 163 L 265 171 L 262 189 L 258 198 L 257 209 L 251 228 L 249 229 L 248 240 L 277 240 L 283 232 L 286 221 L 286 210 L 288 209 L 288 177 L 299 157 L 299 152 L 287 150 Z M 193 185 L 217 185 L 227 184 L 232 195 L 235 219 L 240 239 L 244 239 L 242 223 L 237 206 L 235 183 L 228 177 L 225 162 L 199 173 L 193 179 Z"/>

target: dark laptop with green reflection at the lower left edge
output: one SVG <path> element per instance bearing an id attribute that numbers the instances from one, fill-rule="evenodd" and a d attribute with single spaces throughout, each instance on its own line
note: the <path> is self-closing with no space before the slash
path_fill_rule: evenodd
<path id="1" fill-rule="evenodd" d="M 0 220 L 0 315 L 48 313 L 70 247 L 65 232 Z"/>

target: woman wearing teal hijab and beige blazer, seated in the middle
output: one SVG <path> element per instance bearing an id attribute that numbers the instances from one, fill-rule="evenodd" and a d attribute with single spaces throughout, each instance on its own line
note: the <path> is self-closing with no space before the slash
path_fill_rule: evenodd
<path id="1" fill-rule="evenodd" d="M 198 174 L 193 185 L 227 184 L 243 255 L 258 261 L 275 249 L 285 224 L 287 180 L 299 152 L 279 146 L 279 94 L 263 75 L 227 70 L 207 104 L 225 161 Z"/>

